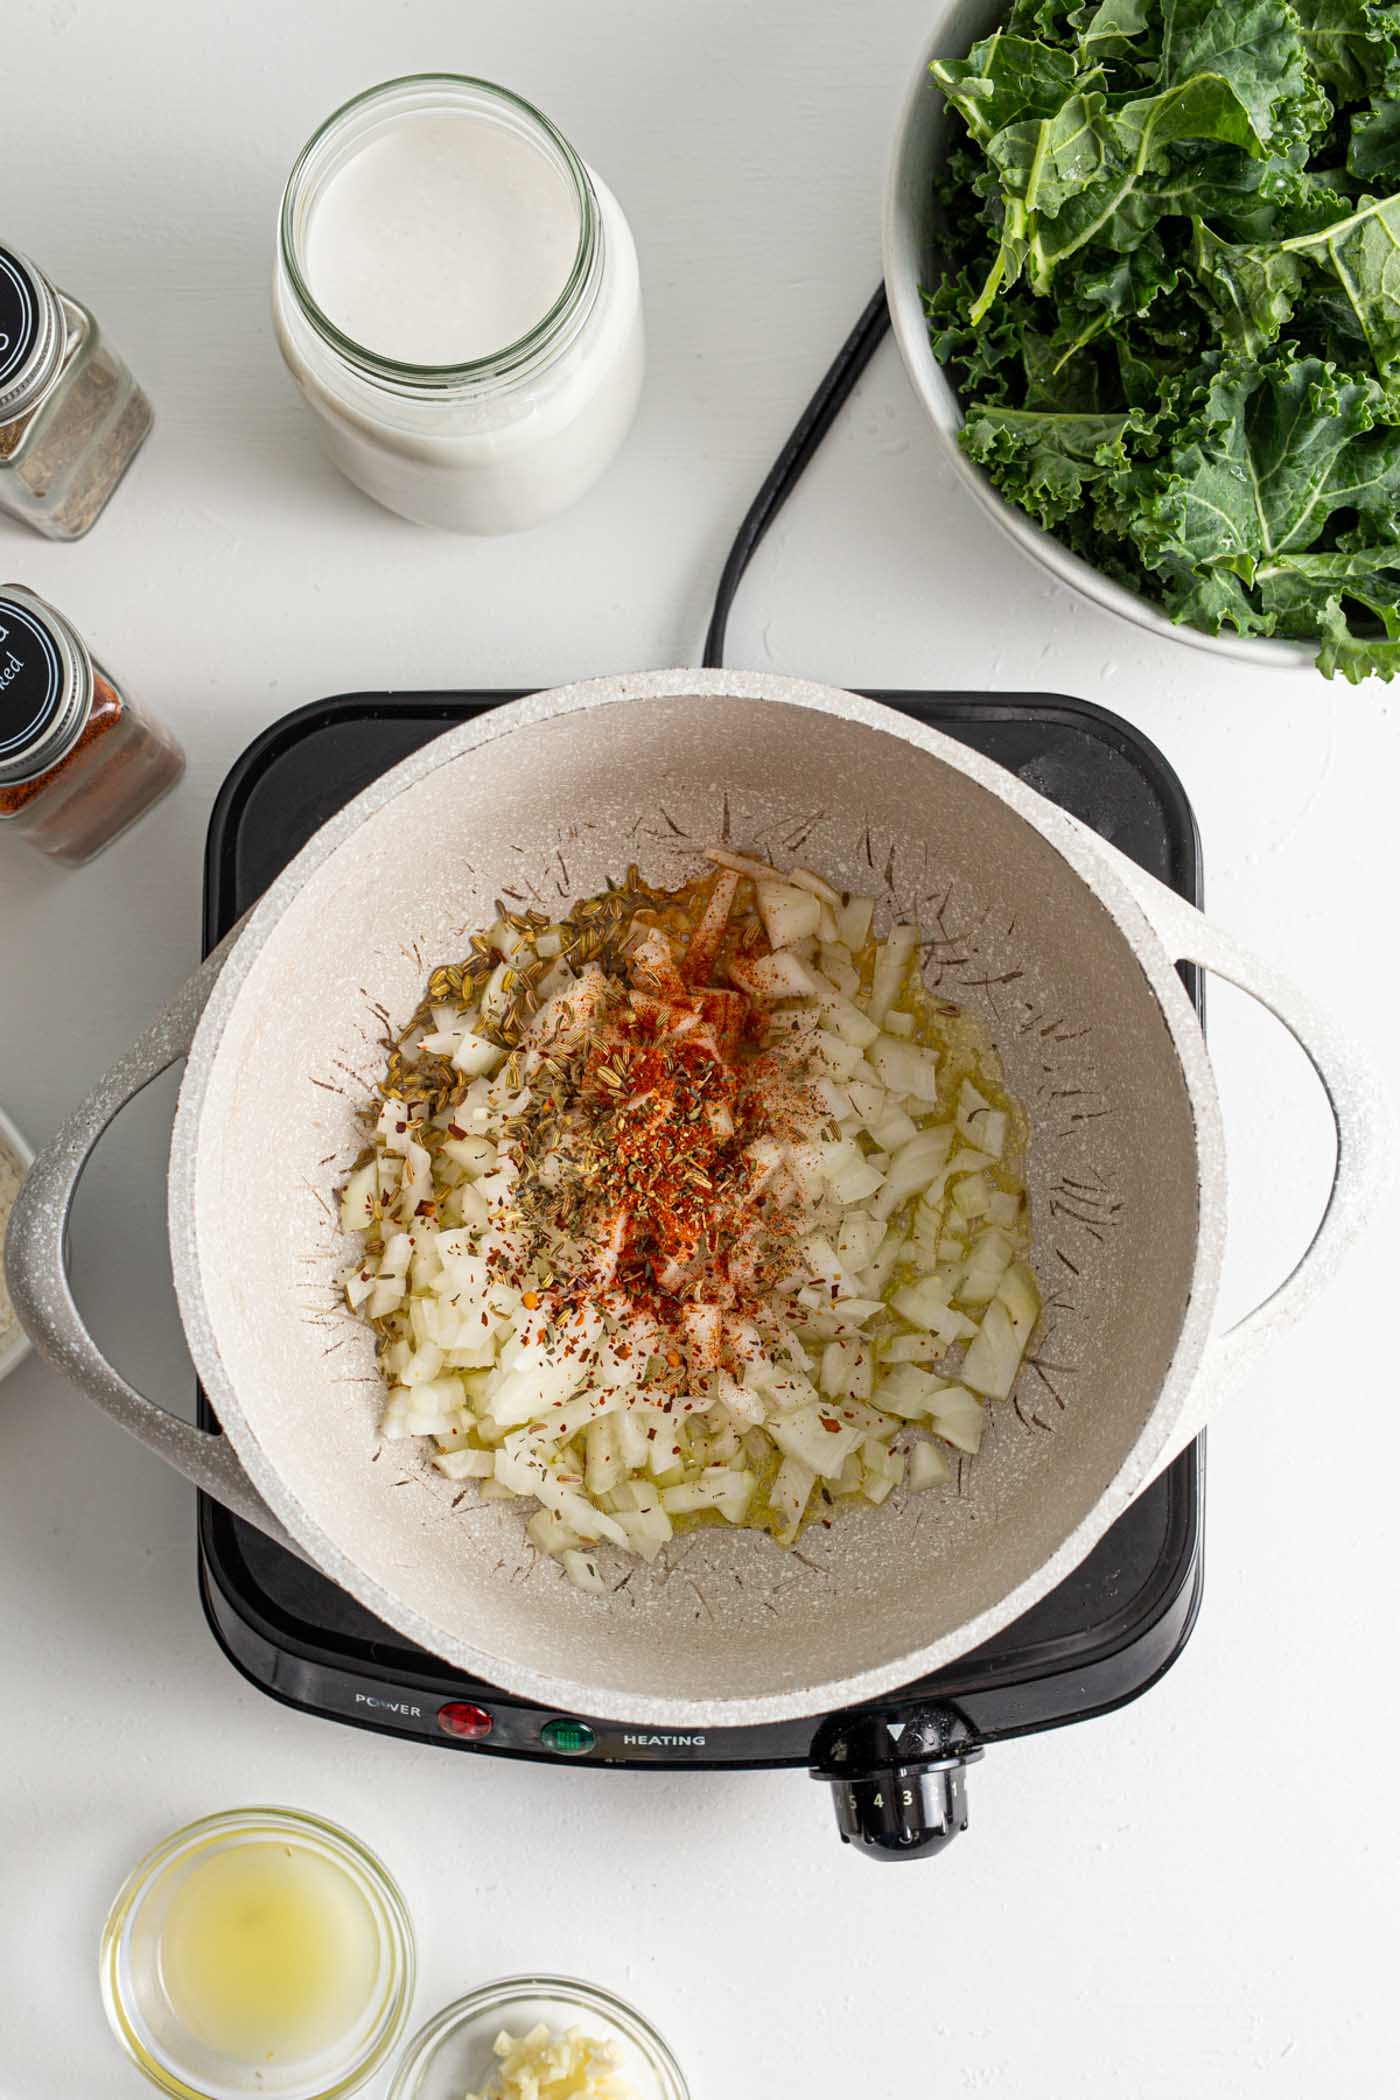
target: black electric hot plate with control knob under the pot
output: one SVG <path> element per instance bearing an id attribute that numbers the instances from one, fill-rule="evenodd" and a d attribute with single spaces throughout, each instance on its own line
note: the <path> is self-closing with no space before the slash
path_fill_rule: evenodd
<path id="1" fill-rule="evenodd" d="M 206 850 L 212 947 L 311 834 L 409 752 L 516 693 L 348 693 L 273 724 L 225 781 Z M 873 693 L 1018 773 L 1148 874 L 1201 903 L 1182 783 L 1127 722 L 1047 693 Z M 1201 1006 L 1196 972 L 1184 970 Z M 216 1426 L 204 1394 L 201 1422 Z M 764 1766 L 829 1781 L 840 1835 L 917 1858 L 966 1829 L 966 1766 L 1007 1737 L 1136 1699 L 1182 1653 L 1201 1602 L 1203 1441 L 1058 1590 L 995 1640 L 869 1707 L 676 1732 L 556 1714 L 413 1648 L 315 1569 L 199 1497 L 199 1590 L 229 1661 L 283 1705 L 445 1751 L 628 1770 Z"/>

